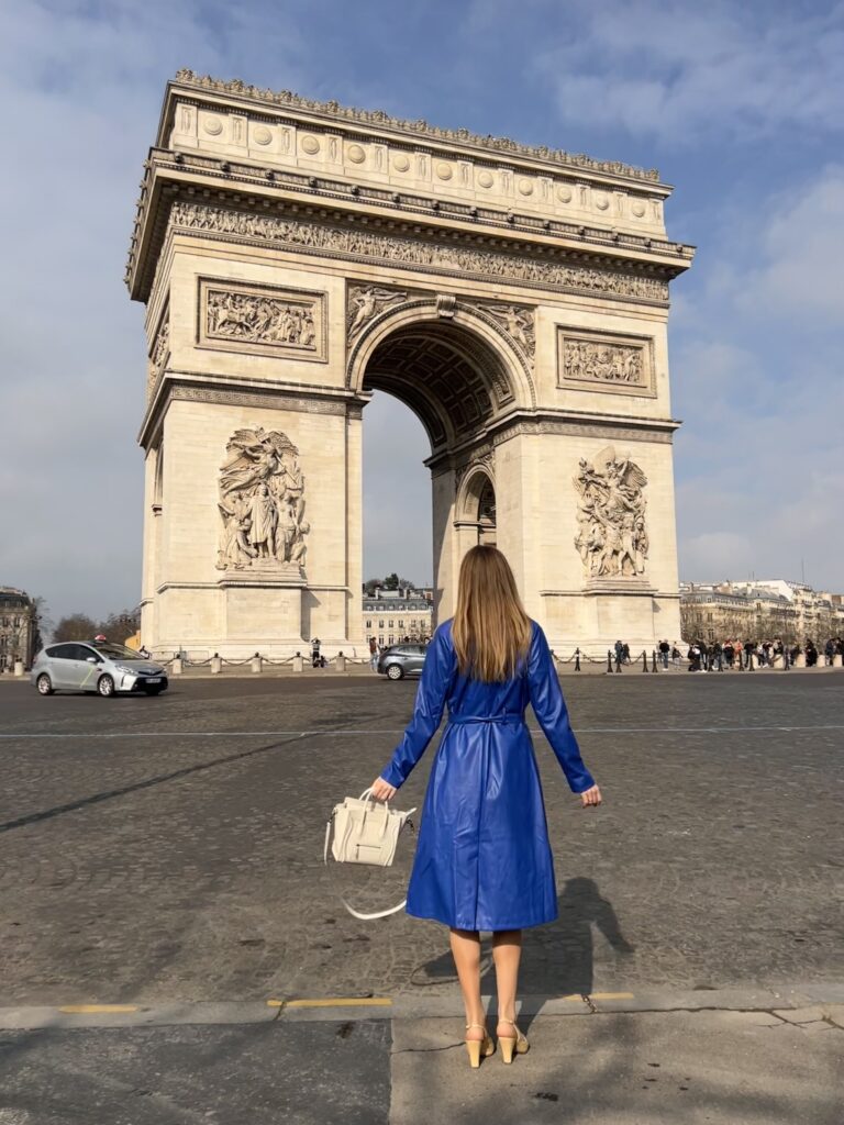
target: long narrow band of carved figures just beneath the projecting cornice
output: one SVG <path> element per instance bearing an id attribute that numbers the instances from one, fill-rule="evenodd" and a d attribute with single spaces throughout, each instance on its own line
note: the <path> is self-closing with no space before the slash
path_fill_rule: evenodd
<path id="1" fill-rule="evenodd" d="M 658 278 L 622 273 L 596 267 L 572 266 L 524 253 L 502 253 L 433 240 L 402 237 L 303 219 L 257 215 L 177 200 L 170 213 L 172 227 L 208 232 L 215 236 L 246 238 L 289 246 L 300 254 L 343 256 L 377 263 L 407 263 L 417 272 L 474 274 L 483 279 L 509 278 L 523 285 L 572 292 L 601 294 L 664 305 L 668 285 Z"/>

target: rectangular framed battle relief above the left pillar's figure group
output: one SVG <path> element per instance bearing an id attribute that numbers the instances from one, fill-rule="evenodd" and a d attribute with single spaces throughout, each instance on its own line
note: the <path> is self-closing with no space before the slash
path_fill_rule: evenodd
<path id="1" fill-rule="evenodd" d="M 326 359 L 325 295 L 199 278 L 200 348 Z"/>

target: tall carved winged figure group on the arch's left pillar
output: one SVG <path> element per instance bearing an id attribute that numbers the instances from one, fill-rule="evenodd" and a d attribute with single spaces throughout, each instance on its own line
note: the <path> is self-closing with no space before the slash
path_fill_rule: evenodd
<path id="1" fill-rule="evenodd" d="M 218 570 L 303 567 L 305 478 L 298 450 L 277 430 L 237 430 L 219 470 L 217 506 L 222 520 Z"/>

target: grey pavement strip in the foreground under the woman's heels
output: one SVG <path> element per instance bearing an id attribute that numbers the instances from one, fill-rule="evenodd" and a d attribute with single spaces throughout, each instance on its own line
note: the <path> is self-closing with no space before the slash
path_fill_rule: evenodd
<path id="1" fill-rule="evenodd" d="M 841 1125 L 839 1001 L 532 997 L 478 1070 L 457 997 L 5 1009 L 0 1125 Z"/>

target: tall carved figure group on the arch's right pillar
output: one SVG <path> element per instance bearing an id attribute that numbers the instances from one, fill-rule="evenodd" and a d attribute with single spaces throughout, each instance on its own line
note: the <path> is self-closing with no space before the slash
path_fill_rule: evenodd
<path id="1" fill-rule="evenodd" d="M 648 557 L 644 488 L 647 477 L 629 456 L 608 446 L 574 477 L 580 494 L 574 544 L 590 578 L 636 577 Z"/>

